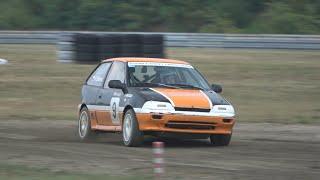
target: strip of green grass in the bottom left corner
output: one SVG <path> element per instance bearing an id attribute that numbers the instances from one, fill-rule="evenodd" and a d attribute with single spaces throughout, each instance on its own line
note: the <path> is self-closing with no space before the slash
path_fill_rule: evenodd
<path id="1" fill-rule="evenodd" d="M 141 176 L 110 176 L 105 174 L 88 174 L 87 172 L 54 172 L 46 168 L 35 168 L 22 165 L 0 165 L 0 179 L 6 180 L 138 180 L 138 179 L 150 179 Z"/>

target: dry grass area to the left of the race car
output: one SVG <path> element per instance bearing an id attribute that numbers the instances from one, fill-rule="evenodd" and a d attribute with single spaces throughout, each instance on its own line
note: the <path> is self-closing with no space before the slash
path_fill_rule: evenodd
<path id="1" fill-rule="evenodd" d="M 60 64 L 54 46 L 1 45 L 1 119 L 75 119 L 93 65 Z"/>

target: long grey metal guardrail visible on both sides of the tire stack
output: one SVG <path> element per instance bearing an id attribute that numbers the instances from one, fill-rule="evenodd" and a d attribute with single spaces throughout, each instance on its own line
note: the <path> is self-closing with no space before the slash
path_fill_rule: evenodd
<path id="1" fill-rule="evenodd" d="M 80 31 L 0 31 L 0 44 L 57 44 L 61 34 Z M 113 34 L 119 32 L 84 32 Z M 162 34 L 166 47 L 204 48 L 259 48 L 259 49 L 320 49 L 320 35 L 272 34 L 211 34 L 211 33 L 150 33 L 120 32 L 130 34 Z"/>

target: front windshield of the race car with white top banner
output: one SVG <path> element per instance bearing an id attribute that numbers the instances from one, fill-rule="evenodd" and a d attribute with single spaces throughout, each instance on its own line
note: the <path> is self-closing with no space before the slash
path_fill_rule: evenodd
<path id="1" fill-rule="evenodd" d="M 129 62 L 129 86 L 208 90 L 207 81 L 191 65 Z"/>

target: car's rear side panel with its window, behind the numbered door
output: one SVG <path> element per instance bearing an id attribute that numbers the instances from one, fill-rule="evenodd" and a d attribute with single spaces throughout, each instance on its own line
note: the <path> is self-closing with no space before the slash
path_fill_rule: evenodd
<path id="1" fill-rule="evenodd" d="M 110 66 L 110 62 L 102 63 L 97 66 L 82 87 L 82 103 L 87 105 L 93 119 L 95 119 L 95 113 L 98 109 L 96 106 L 97 95 L 99 90 L 103 87 Z"/>

